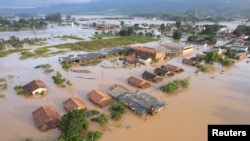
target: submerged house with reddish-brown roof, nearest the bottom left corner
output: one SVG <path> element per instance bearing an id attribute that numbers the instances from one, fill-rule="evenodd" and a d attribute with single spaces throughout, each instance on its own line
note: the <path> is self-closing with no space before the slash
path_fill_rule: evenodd
<path id="1" fill-rule="evenodd" d="M 34 122 L 41 131 L 54 129 L 59 125 L 59 114 L 53 106 L 41 106 L 32 112 Z"/>

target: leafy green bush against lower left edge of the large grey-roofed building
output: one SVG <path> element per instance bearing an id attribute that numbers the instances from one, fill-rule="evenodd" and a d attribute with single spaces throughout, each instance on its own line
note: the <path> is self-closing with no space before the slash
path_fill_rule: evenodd
<path id="1" fill-rule="evenodd" d="M 109 110 L 111 111 L 111 119 L 119 120 L 122 114 L 126 112 L 126 107 L 123 102 L 119 102 L 110 105 Z"/>

